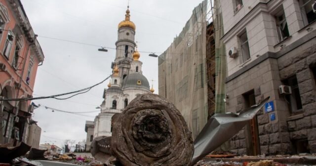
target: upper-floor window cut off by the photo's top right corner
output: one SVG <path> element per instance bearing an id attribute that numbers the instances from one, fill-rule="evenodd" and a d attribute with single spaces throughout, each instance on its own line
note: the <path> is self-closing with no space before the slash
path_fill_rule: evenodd
<path id="1" fill-rule="evenodd" d="M 315 0 L 299 0 L 304 26 L 316 20 L 316 13 L 314 13 L 312 7 L 314 2 Z"/>

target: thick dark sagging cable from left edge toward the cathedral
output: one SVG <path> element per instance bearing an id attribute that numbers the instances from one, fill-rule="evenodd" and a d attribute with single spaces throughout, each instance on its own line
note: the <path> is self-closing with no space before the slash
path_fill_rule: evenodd
<path id="1" fill-rule="evenodd" d="M 100 83 L 94 84 L 94 85 L 92 85 L 90 87 L 86 87 L 86 88 L 83 88 L 83 89 L 80 89 L 80 90 L 77 90 L 77 91 L 68 92 L 68 93 L 56 94 L 56 95 L 51 95 L 51 96 L 43 96 L 43 97 L 34 97 L 34 98 L 7 98 L 7 99 L 6 98 L 4 98 L 4 99 L 1 98 L 1 101 L 28 101 L 28 100 L 39 100 L 39 99 L 45 99 L 45 98 L 54 98 L 54 99 L 58 99 L 58 100 L 65 100 L 65 99 L 69 99 L 71 97 L 74 97 L 76 95 L 88 92 L 93 87 L 95 87 L 95 86 L 97 86 L 97 85 L 99 85 L 101 83 L 104 83 L 110 77 L 111 77 L 111 75 L 108 76 L 106 79 L 104 79 Z M 64 95 L 73 94 L 73 93 L 77 93 L 77 94 L 74 94 L 74 95 L 72 95 L 70 97 L 66 97 L 66 98 L 57 98 L 58 96 L 64 96 Z"/>

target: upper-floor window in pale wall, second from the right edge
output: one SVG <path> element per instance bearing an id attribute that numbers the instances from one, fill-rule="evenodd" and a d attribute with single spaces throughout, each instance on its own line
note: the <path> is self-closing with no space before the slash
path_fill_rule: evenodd
<path id="1" fill-rule="evenodd" d="M 278 42 L 282 42 L 284 39 L 290 36 L 290 33 L 287 28 L 283 7 L 281 7 L 279 12 L 276 14 L 275 18 Z"/>

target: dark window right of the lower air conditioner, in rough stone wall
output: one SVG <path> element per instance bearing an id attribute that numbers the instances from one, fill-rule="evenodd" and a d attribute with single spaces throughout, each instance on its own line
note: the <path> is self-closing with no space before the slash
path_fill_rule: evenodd
<path id="1" fill-rule="evenodd" d="M 288 103 L 291 113 L 298 112 L 302 109 L 301 95 L 298 88 L 296 76 L 290 77 L 283 81 L 285 85 L 291 86 L 292 94 L 285 95 L 285 101 Z"/>

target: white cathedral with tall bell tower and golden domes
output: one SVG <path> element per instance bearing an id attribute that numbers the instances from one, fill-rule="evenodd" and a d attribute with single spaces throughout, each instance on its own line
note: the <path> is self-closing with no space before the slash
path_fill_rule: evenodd
<path id="1" fill-rule="evenodd" d="M 143 93 L 153 93 L 154 88 L 150 88 L 148 80 L 142 74 L 142 62 L 139 61 L 140 54 L 134 42 L 135 24 L 130 21 L 130 14 L 127 8 L 125 20 L 118 24 L 118 41 L 116 58 L 112 62 L 113 73 L 108 88 L 104 90 L 104 101 L 101 104 L 101 113 L 94 119 L 94 130 L 90 133 L 86 124 L 87 145 L 88 139 L 99 136 L 111 136 L 111 118 L 115 113 L 122 110 L 136 96 Z M 135 49 L 136 48 L 136 49 Z M 90 127 L 92 127 L 90 125 Z"/>

